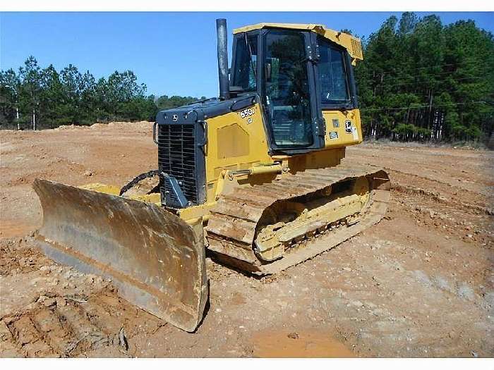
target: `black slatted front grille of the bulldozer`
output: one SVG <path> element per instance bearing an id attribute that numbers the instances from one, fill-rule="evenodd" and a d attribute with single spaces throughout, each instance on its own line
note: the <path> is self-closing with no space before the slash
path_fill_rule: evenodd
<path id="1" fill-rule="evenodd" d="M 195 125 L 158 125 L 158 165 L 160 172 L 176 178 L 187 200 L 197 204 L 194 129 Z M 162 194 L 169 191 L 167 183 L 160 179 Z"/>

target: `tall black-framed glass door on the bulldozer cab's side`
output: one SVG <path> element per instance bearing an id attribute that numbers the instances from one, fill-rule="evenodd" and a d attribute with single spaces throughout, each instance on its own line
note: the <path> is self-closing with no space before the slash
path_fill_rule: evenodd
<path id="1" fill-rule="evenodd" d="M 296 154 L 324 147 L 310 34 L 263 30 L 260 95 L 273 152 Z"/>

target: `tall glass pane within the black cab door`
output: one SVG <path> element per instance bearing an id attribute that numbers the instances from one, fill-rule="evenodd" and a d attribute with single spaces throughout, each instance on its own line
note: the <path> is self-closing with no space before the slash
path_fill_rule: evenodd
<path id="1" fill-rule="evenodd" d="M 313 143 L 305 37 L 302 32 L 271 30 L 265 36 L 265 105 L 275 144 Z"/>

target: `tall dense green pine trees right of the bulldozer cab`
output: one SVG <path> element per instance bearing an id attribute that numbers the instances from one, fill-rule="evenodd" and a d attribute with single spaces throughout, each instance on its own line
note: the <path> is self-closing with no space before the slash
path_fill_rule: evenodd
<path id="1" fill-rule="evenodd" d="M 472 20 L 392 16 L 356 67 L 364 132 L 374 138 L 487 140 L 494 129 L 494 39 Z"/>

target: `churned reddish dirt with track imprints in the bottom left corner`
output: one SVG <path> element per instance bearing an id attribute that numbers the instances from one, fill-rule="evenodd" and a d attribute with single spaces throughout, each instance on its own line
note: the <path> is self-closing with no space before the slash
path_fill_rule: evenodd
<path id="1" fill-rule="evenodd" d="M 1 318 L 2 357 L 132 357 L 140 329 L 152 335 L 166 325 L 111 286 L 89 296 L 44 292 L 31 306 Z"/>

